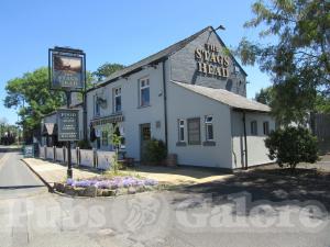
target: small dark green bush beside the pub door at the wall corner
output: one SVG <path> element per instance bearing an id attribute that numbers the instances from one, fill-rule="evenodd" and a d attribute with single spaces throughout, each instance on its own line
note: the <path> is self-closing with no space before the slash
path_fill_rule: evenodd
<path id="1" fill-rule="evenodd" d="M 144 160 L 161 162 L 167 156 L 166 145 L 163 141 L 152 138 L 145 145 Z"/>

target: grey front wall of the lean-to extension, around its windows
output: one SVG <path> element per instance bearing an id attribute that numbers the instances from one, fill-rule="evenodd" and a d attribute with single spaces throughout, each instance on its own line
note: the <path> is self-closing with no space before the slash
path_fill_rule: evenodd
<path id="1" fill-rule="evenodd" d="M 218 167 L 231 169 L 230 108 L 220 102 L 189 91 L 175 83 L 168 83 L 168 151 L 177 154 L 179 165 Z M 204 146 L 206 141 L 205 116 L 213 116 L 216 146 Z M 177 146 L 178 119 L 200 117 L 200 145 L 189 145 L 187 122 L 185 136 L 187 146 Z"/>

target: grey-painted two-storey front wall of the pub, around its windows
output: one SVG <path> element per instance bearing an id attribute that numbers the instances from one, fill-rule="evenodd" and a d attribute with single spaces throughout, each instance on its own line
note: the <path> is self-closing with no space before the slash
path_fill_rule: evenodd
<path id="1" fill-rule="evenodd" d="M 140 160 L 140 124 L 151 124 L 151 135 L 157 139 L 165 139 L 164 123 L 164 92 L 163 92 L 163 64 L 160 63 L 155 68 L 146 67 L 139 72 L 132 74 L 128 79 L 119 79 L 102 88 L 88 92 L 88 125 L 94 119 L 92 96 L 102 94 L 107 99 L 107 108 L 100 109 L 100 116 L 113 114 L 112 90 L 121 87 L 122 101 L 122 122 L 125 133 L 125 150 L 128 157 Z M 150 79 L 150 106 L 139 106 L 139 80 L 148 77 Z M 102 97 L 102 98 L 103 98 Z M 161 122 L 161 127 L 156 127 L 156 122 Z M 105 126 L 96 126 L 102 130 Z M 89 127 L 88 127 L 89 133 Z M 94 142 L 96 147 L 96 142 Z M 101 148 L 106 149 L 106 148 Z"/>

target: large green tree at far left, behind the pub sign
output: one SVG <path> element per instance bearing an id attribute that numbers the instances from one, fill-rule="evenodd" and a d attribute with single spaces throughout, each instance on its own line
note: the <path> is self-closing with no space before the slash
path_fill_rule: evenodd
<path id="1" fill-rule="evenodd" d="M 63 93 L 51 91 L 48 83 L 48 69 L 45 67 L 7 82 L 4 106 L 19 109 L 19 124 L 24 128 L 25 138 L 31 137 L 33 131 L 40 127 L 43 115 L 55 111 L 65 102 Z"/>

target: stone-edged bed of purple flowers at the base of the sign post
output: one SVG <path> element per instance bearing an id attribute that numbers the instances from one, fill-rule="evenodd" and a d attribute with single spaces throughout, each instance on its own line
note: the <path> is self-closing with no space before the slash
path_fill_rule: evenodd
<path id="1" fill-rule="evenodd" d="M 158 182 L 153 179 L 113 177 L 111 179 L 68 179 L 65 183 L 55 183 L 54 189 L 70 195 L 111 197 L 154 190 Z"/>

